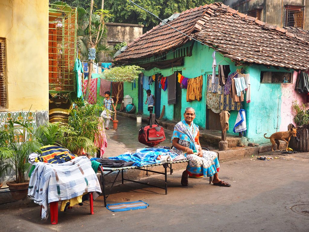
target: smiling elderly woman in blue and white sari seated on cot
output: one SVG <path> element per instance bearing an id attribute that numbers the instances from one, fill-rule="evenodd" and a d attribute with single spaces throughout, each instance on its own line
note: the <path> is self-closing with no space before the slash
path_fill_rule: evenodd
<path id="1" fill-rule="evenodd" d="M 220 165 L 217 153 L 202 150 L 198 126 L 193 123 L 194 118 L 195 110 L 192 107 L 186 108 L 184 119 L 174 127 L 171 139 L 173 150 L 189 160 L 187 169 L 182 173 L 181 184 L 188 185 L 188 175 L 193 178 L 213 176 L 214 185 L 230 187 L 229 183 L 218 178 Z"/>

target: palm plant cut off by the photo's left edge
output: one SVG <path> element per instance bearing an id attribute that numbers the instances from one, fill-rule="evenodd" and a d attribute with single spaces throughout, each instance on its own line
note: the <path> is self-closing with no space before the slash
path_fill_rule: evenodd
<path id="1" fill-rule="evenodd" d="M 2 178 L 9 170 L 11 170 L 11 163 L 8 159 L 13 155 L 12 150 L 7 146 L 6 141 L 9 138 L 9 133 L 6 130 L 0 131 L 0 178 Z M 0 180 L 0 188 L 2 183 Z"/>

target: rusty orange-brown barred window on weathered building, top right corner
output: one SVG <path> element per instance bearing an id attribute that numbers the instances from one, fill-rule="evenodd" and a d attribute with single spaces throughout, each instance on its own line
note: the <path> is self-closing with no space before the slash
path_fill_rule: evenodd
<path id="1" fill-rule="evenodd" d="M 303 28 L 304 7 L 286 5 L 284 11 L 284 25 L 286 27 Z"/>

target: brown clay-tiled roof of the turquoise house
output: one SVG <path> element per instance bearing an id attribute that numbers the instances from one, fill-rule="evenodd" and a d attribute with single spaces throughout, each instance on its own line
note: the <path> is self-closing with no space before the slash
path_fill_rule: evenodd
<path id="1" fill-rule="evenodd" d="M 222 3 L 184 11 L 170 24 L 237 63 L 309 69 L 308 32 L 264 23 Z M 116 61 L 149 57 L 188 41 L 167 25 L 147 33 L 129 44 Z"/>

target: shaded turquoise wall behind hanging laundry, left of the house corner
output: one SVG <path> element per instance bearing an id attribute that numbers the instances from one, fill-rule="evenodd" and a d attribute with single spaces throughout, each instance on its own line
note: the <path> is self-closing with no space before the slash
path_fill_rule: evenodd
<path id="1" fill-rule="evenodd" d="M 184 45 L 183 47 L 188 47 L 191 45 L 191 42 L 188 44 Z M 166 69 L 158 69 L 158 68 L 153 68 L 148 71 L 143 71 L 144 75 L 146 76 L 151 76 L 156 73 L 161 73 L 163 76 L 169 76 L 173 74 L 175 71 L 182 71 L 182 75 L 187 77 L 187 78 L 195 78 L 197 76 L 203 75 L 203 89 L 202 89 L 202 99 L 201 101 L 191 101 L 187 102 L 187 90 L 182 89 L 182 98 L 181 98 L 181 111 L 184 112 L 186 107 L 193 107 L 196 111 L 196 118 L 194 122 L 200 127 L 200 128 L 205 128 L 206 125 L 206 85 L 207 85 L 207 74 L 212 74 L 212 53 L 214 52 L 213 49 L 210 49 L 208 47 L 205 47 L 199 43 L 195 43 L 193 46 L 192 50 L 192 56 L 188 57 L 186 56 L 184 58 L 184 66 L 179 66 L 179 67 L 170 67 Z M 167 60 L 172 59 L 173 53 L 167 54 Z M 150 60 L 152 60 L 150 58 Z M 220 62 L 220 64 L 225 65 L 225 64 L 232 64 L 231 69 L 233 69 L 233 62 L 225 58 L 225 60 L 222 61 L 222 56 L 219 53 L 216 53 L 216 60 L 217 63 Z M 221 62 L 222 61 L 222 62 Z M 226 62 L 227 61 L 227 62 Z M 229 63 L 228 63 L 229 62 Z M 235 68 L 236 70 L 236 68 Z M 218 68 L 217 68 L 217 73 L 218 73 Z M 233 70 L 232 70 L 233 71 Z M 150 85 L 150 90 L 152 93 L 154 93 L 154 84 Z M 134 90 L 133 90 L 134 91 Z M 143 94 L 143 102 L 146 101 L 146 90 L 143 89 L 144 94 Z M 138 87 L 135 90 L 135 95 L 138 97 Z M 132 90 L 131 88 L 125 89 L 124 95 L 129 94 L 132 96 Z M 137 103 L 138 104 L 138 101 Z M 173 120 L 173 112 L 174 112 L 174 105 L 168 105 L 167 104 L 167 91 L 161 90 L 161 109 L 162 111 L 163 105 L 165 105 L 165 113 L 164 117 L 166 117 L 168 120 Z M 231 118 L 230 122 L 233 124 L 237 117 L 238 111 L 232 110 L 230 111 Z M 147 105 L 143 104 L 143 114 L 149 115 L 149 112 L 147 110 Z M 228 131 L 230 133 L 233 133 L 233 127 Z"/>

